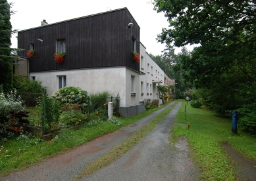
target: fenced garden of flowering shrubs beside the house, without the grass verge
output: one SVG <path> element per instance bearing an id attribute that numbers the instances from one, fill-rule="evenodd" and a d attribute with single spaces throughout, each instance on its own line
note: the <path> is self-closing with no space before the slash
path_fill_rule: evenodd
<path id="1" fill-rule="evenodd" d="M 113 102 L 113 115 L 118 116 L 119 95 L 113 97 L 106 91 L 89 96 L 78 87 L 64 87 L 51 96 L 16 91 L 1 93 L 1 140 L 11 138 L 15 131 L 31 132 L 34 128 L 39 131 L 36 135 L 42 137 L 70 127 L 90 125 L 90 121 L 106 121 L 108 102 Z"/>

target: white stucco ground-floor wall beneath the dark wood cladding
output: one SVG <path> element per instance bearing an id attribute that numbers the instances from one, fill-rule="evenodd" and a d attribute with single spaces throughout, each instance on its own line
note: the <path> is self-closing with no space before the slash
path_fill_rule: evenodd
<path id="1" fill-rule="evenodd" d="M 47 94 L 51 95 L 59 89 L 59 77 L 66 75 L 66 86 L 80 87 L 88 93 L 109 91 L 112 96 L 119 93 L 120 106 L 132 106 L 139 104 L 140 93 L 139 74 L 126 67 L 118 68 L 93 68 L 85 70 L 64 70 L 32 72 L 36 80 L 43 81 L 42 85 L 47 87 Z M 131 96 L 131 75 L 135 76 L 134 85 L 136 96 Z"/>

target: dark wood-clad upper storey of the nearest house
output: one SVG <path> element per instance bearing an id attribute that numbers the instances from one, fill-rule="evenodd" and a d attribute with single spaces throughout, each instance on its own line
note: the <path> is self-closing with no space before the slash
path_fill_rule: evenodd
<path id="1" fill-rule="evenodd" d="M 126 30 L 130 22 L 134 26 Z M 59 39 L 66 44 L 62 64 L 53 58 Z M 21 56 L 26 56 L 26 50 L 34 45 L 36 58 L 30 59 L 30 72 L 115 66 L 140 71 L 140 64 L 132 60 L 134 39 L 140 52 L 140 27 L 124 8 L 18 31 L 18 48 L 24 49 Z"/>

